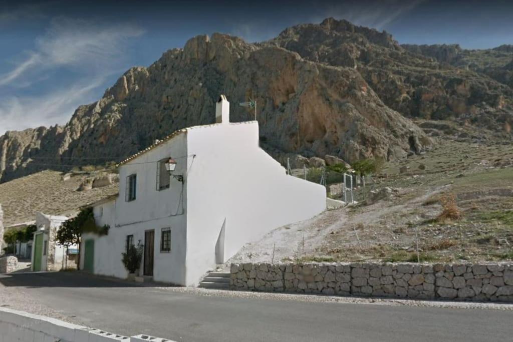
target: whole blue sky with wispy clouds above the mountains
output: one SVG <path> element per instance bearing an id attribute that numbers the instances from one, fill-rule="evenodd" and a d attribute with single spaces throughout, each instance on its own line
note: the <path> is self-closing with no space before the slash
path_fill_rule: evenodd
<path id="1" fill-rule="evenodd" d="M 401 44 L 513 44 L 512 0 L 0 0 L 0 135 L 66 124 L 130 67 L 195 35 L 258 42 L 326 17 L 386 30 Z"/>

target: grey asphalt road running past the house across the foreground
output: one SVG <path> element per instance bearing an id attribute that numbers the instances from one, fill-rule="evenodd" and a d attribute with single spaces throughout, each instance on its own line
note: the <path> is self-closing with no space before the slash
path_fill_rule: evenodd
<path id="1" fill-rule="evenodd" d="M 0 283 L 90 327 L 176 341 L 513 340 L 513 311 L 201 296 L 77 273 L 0 275 Z"/>

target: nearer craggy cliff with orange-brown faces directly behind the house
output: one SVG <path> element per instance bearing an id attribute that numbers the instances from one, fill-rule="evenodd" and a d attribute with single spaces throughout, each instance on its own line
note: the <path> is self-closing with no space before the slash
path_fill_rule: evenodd
<path id="1" fill-rule="evenodd" d="M 385 44 L 387 38 L 373 39 Z M 220 93 L 233 104 L 257 100 L 260 138 L 269 150 L 352 162 L 401 158 L 431 146 L 354 68 L 213 34 L 167 51 L 148 68 L 128 70 L 100 100 L 79 107 L 64 127 L 8 132 L 0 138 L 1 180 L 120 160 L 173 130 L 213 123 Z M 232 121 L 252 116 L 252 110 L 232 106 Z"/>

